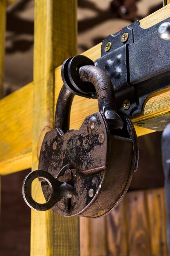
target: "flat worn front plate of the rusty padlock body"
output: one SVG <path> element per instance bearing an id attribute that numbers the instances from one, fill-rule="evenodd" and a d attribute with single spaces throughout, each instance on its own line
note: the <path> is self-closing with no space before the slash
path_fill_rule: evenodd
<path id="1" fill-rule="evenodd" d="M 55 178 L 63 176 L 70 168 L 74 195 L 62 198 L 52 208 L 62 216 L 81 215 L 93 203 L 102 188 L 106 176 L 109 155 L 109 130 L 104 116 L 97 112 L 85 118 L 79 130 L 63 133 L 54 129 L 46 133 L 41 149 L 39 169 L 47 170 Z M 53 146 L 55 144 L 55 147 Z M 51 191 L 47 182 L 42 181 L 46 200 Z M 93 190 L 93 196 L 89 191 Z"/>

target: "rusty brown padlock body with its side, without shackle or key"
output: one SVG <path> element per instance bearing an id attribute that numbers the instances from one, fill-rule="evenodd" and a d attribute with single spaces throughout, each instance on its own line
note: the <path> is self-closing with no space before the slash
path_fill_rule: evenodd
<path id="1" fill-rule="evenodd" d="M 60 180 L 71 169 L 72 198 L 62 198 L 53 211 L 62 216 L 98 218 L 111 211 L 126 193 L 134 171 L 131 138 L 110 134 L 104 116 L 86 117 L 79 130 L 47 132 L 41 149 L 39 168 Z M 64 180 L 62 180 L 64 181 Z M 41 182 L 46 200 L 50 187 Z"/>

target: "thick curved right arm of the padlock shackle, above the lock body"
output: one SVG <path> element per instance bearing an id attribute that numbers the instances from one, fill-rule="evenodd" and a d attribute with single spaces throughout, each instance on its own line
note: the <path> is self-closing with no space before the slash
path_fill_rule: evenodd
<path id="1" fill-rule="evenodd" d="M 91 82 L 97 92 L 99 112 L 116 111 L 115 93 L 108 75 L 99 67 L 86 65 L 78 70 L 79 77 L 84 82 Z"/>

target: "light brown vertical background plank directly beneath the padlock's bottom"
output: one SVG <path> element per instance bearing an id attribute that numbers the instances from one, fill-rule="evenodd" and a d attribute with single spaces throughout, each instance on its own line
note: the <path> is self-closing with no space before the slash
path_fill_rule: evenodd
<path id="1" fill-rule="evenodd" d="M 90 219 L 90 256 L 107 256 L 106 218 Z"/>

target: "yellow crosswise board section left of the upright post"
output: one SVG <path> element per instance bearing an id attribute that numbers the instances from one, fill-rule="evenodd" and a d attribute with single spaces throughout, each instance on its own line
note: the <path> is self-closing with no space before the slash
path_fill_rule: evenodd
<path id="1" fill-rule="evenodd" d="M 0 174 L 31 167 L 33 83 L 0 100 Z"/>

